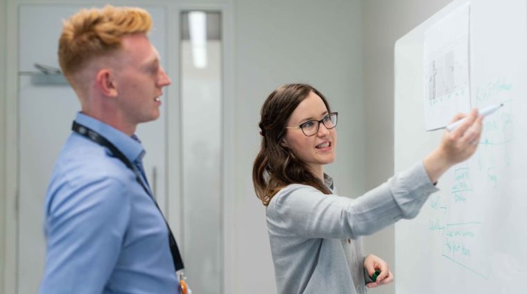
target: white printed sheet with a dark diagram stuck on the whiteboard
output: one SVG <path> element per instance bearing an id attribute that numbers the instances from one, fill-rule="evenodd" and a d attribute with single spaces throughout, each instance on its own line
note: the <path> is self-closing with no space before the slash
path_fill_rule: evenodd
<path id="1" fill-rule="evenodd" d="M 424 36 L 424 118 L 437 130 L 458 112 L 470 110 L 469 5 L 426 31 Z"/>

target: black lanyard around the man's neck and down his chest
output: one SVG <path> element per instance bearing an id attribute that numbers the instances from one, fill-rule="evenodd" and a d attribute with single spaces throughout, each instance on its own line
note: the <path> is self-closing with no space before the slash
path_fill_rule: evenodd
<path id="1" fill-rule="evenodd" d="M 134 168 L 134 165 L 132 164 L 132 162 L 130 162 L 130 160 L 126 158 L 126 156 L 123 155 L 121 150 L 117 149 L 114 146 L 114 144 L 108 141 L 105 137 L 101 136 L 98 132 L 95 132 L 94 130 L 87 128 L 86 126 L 83 126 L 80 123 L 77 123 L 76 121 L 74 121 L 73 126 L 71 126 L 71 130 L 76 132 L 78 135 L 81 135 L 89 139 L 90 141 L 95 142 L 96 144 L 99 144 L 101 146 L 104 146 L 110 149 L 110 152 L 116 158 L 121 160 L 121 162 L 123 162 L 123 164 L 125 164 L 126 167 L 130 168 L 130 170 L 132 170 L 135 173 L 135 180 L 137 180 L 137 182 L 141 184 L 141 187 L 143 187 L 144 191 L 149 196 L 151 196 L 150 190 L 148 189 L 148 187 L 146 187 L 144 182 L 141 180 L 141 175 L 139 175 L 139 172 L 137 171 L 137 169 Z M 161 209 L 159 209 L 159 206 L 157 205 L 157 202 L 155 201 L 155 199 L 153 197 L 150 197 L 150 198 L 152 198 L 152 200 L 155 203 L 155 207 L 157 207 L 157 209 L 159 210 L 159 213 L 163 216 L 163 213 Z M 164 218 L 164 216 L 163 216 L 163 219 L 165 221 L 166 228 L 169 229 L 170 252 L 172 254 L 172 259 L 174 262 L 175 270 L 182 270 L 184 268 L 184 265 L 183 265 L 183 259 L 181 258 L 180 250 L 178 249 L 178 243 L 175 242 L 175 238 L 174 238 L 174 235 L 172 234 L 172 230 L 170 230 L 169 223 L 166 222 L 166 219 Z"/>

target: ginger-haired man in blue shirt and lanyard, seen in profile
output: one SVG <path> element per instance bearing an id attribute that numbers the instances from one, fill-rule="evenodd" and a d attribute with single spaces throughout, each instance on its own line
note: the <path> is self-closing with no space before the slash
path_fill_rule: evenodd
<path id="1" fill-rule="evenodd" d="M 134 135 L 139 123 L 159 117 L 171 83 L 146 36 L 151 24 L 145 10 L 112 6 L 64 21 L 58 57 L 81 112 L 46 195 L 40 293 L 177 291 L 182 262 Z"/>

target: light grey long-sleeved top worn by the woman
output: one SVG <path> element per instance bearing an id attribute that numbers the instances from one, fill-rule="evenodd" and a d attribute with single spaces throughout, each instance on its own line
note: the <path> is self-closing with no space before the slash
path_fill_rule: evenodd
<path id="1" fill-rule="evenodd" d="M 422 163 L 357 199 L 302 184 L 280 190 L 266 209 L 277 292 L 365 293 L 358 237 L 415 217 L 435 191 Z"/>

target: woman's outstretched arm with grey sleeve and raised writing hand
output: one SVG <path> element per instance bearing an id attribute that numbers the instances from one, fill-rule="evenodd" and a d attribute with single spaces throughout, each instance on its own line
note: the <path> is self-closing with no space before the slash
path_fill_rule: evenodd
<path id="1" fill-rule="evenodd" d="M 454 120 L 461 118 L 463 114 L 458 114 Z M 481 136 L 481 120 L 473 110 L 458 128 L 445 130 L 440 146 L 422 163 L 356 199 L 325 195 L 298 184 L 284 188 L 268 206 L 269 229 L 307 238 L 356 239 L 401 218 L 415 217 L 429 195 L 437 191 L 432 183 L 449 167 L 474 154 Z"/>

